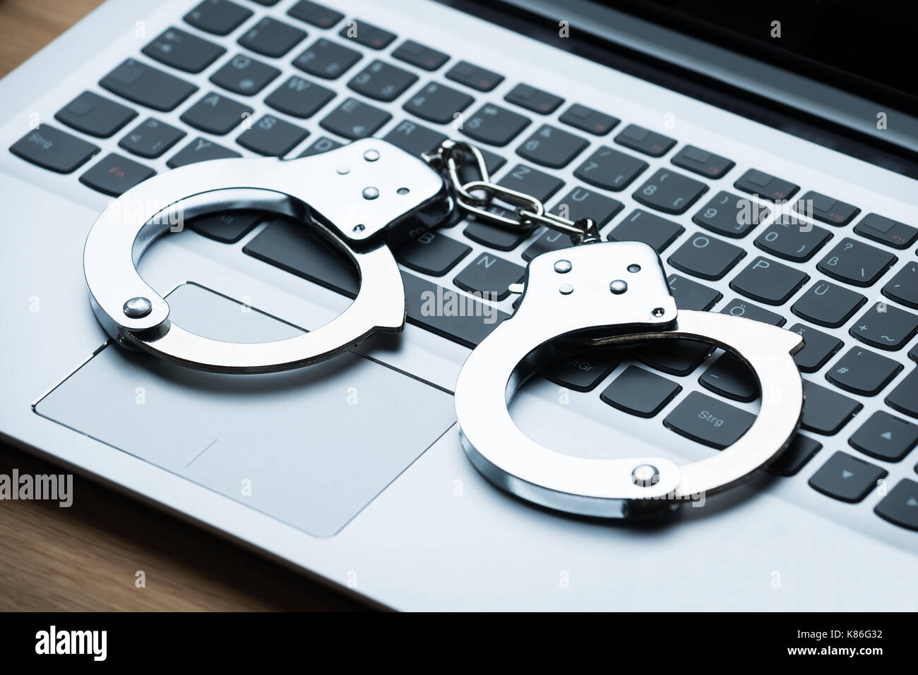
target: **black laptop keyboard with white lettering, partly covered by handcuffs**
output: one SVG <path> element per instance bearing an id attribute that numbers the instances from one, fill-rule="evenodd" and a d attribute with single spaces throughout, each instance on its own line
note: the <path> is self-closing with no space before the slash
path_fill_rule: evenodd
<path id="1" fill-rule="evenodd" d="M 792 204 L 805 214 L 798 219 L 779 207 L 800 194 L 792 177 L 736 166 L 716 148 L 565 101 L 563 92 L 505 83 L 497 63 L 476 63 L 471 54 L 465 61 L 423 36 L 397 35 L 333 7 L 284 0 L 285 14 L 264 16 L 263 6 L 276 4 L 201 2 L 177 22 L 181 28 L 167 28 L 99 73 L 99 93 L 86 91 L 62 107 L 54 116 L 59 125 L 30 131 L 10 151 L 51 172 L 80 170 L 87 189 L 115 196 L 154 175 L 146 162 L 160 158 L 175 168 L 251 154 L 305 157 L 373 135 L 420 154 L 443 138 L 465 136 L 482 149 L 499 184 L 555 199 L 553 213 L 594 217 L 609 240 L 654 247 L 678 272 L 668 281 L 680 308 L 775 326 L 794 322 L 789 329 L 806 340 L 795 360 L 807 373 L 802 429 L 809 433 L 798 435 L 769 469 L 773 474 L 793 476 L 821 461 L 812 489 L 859 503 L 888 475 L 874 461 L 918 459 L 918 370 L 890 358 L 908 349 L 908 359 L 918 360 L 918 224 L 809 189 Z M 230 35 L 229 50 L 213 40 Z M 282 77 L 288 65 L 296 74 Z M 185 79 L 211 67 L 205 90 Z M 342 78 L 349 94 L 323 85 Z M 498 93 L 483 97 L 498 87 L 506 89 L 500 105 Z M 157 115 L 172 111 L 180 124 Z M 123 152 L 91 164 L 101 150 L 94 138 L 116 135 Z M 563 169 L 576 180 L 554 173 Z M 721 183 L 711 190 L 708 182 L 723 177 L 730 189 L 719 189 Z M 623 195 L 634 205 L 626 208 Z M 674 216 L 686 225 L 690 219 L 691 229 Z M 338 293 L 357 292 L 355 273 L 337 251 L 279 219 L 239 212 L 189 227 L 226 245 L 241 242 L 240 255 Z M 424 233 L 396 252 L 409 323 L 475 347 L 509 316 L 492 300 L 509 296 L 525 262 L 568 245 L 553 231 L 504 230 L 475 219 Z M 893 272 L 901 259 L 904 266 Z M 817 260 L 819 275 L 800 267 L 809 260 Z M 716 280 L 728 280 L 735 295 L 725 298 L 707 283 Z M 420 303 L 427 292 L 460 298 L 461 307 L 431 315 Z M 740 361 L 688 341 L 589 349 L 543 374 L 709 448 L 725 448 L 744 433 L 754 415 L 734 403 L 758 398 Z M 689 377 L 703 391 L 686 391 L 691 381 L 679 378 Z M 861 419 L 869 397 L 882 397 L 888 409 Z M 823 445 L 832 453 L 821 452 Z M 918 530 L 918 476 L 908 473 L 874 510 Z"/>

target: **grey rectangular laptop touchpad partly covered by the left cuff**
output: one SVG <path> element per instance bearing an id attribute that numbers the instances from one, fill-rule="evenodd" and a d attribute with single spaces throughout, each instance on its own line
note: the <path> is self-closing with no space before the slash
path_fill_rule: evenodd
<path id="1" fill-rule="evenodd" d="M 195 284 L 175 322 L 256 342 L 301 332 Z M 109 345 L 36 406 L 317 537 L 337 533 L 454 422 L 448 393 L 353 353 L 299 371 L 192 371 Z"/>

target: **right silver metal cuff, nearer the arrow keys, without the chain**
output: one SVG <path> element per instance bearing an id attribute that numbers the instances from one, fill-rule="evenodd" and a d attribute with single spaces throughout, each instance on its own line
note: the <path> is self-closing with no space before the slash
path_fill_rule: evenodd
<path id="1" fill-rule="evenodd" d="M 623 291 L 613 283 L 621 280 L 627 280 Z M 755 423 L 730 448 L 681 467 L 662 457 L 580 458 L 536 443 L 513 423 L 509 403 L 565 344 L 582 346 L 583 334 L 594 331 L 604 337 L 591 342 L 691 338 L 733 351 L 761 387 Z M 529 265 L 516 314 L 482 341 L 459 373 L 460 437 L 489 481 L 531 502 L 616 518 L 668 511 L 693 495 L 749 478 L 788 446 L 803 406 L 791 358 L 800 347 L 800 336 L 775 326 L 677 312 L 655 250 L 646 244 L 605 242 L 544 253 Z"/>

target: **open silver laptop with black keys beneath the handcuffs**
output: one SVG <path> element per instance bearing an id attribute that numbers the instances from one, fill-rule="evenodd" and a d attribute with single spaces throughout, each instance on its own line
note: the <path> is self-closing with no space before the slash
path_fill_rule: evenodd
<path id="1" fill-rule="evenodd" d="M 808 39 L 852 25 L 847 3 L 611 5 L 106 2 L 0 82 L 0 432 L 401 610 L 914 610 L 918 99 L 908 61 L 877 67 L 905 21 L 889 6 L 857 23 L 875 62 Z M 365 136 L 470 141 L 498 183 L 655 247 L 680 307 L 799 332 L 793 445 L 644 525 L 495 489 L 460 446 L 454 382 L 526 262 L 565 240 L 475 219 L 397 250 L 402 335 L 317 366 L 204 373 L 107 341 L 82 250 L 114 196 Z M 140 273 L 176 322 L 242 342 L 321 326 L 357 288 L 303 227 L 248 211 L 189 221 Z M 476 311 L 423 312 L 427 292 Z M 742 364 L 684 342 L 558 362 L 512 413 L 559 452 L 688 462 L 742 435 L 757 398 Z"/>

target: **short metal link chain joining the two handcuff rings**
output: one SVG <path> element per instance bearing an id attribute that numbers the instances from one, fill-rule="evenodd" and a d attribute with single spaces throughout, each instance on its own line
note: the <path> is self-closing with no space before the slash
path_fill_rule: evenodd
<path id="1" fill-rule="evenodd" d="M 556 216 L 548 213 L 542 201 L 532 194 L 492 183 L 484 155 L 471 143 L 446 138 L 436 149 L 423 153 L 421 157 L 434 171 L 443 175 L 453 191 L 456 204 L 467 215 L 508 229 L 532 229 L 543 225 L 569 236 L 575 245 L 591 244 L 601 240 L 599 227 L 592 218 L 570 220 Z M 463 183 L 459 171 L 465 164 L 476 170 L 478 180 Z M 488 210 L 495 198 L 514 206 L 511 215 Z"/>

